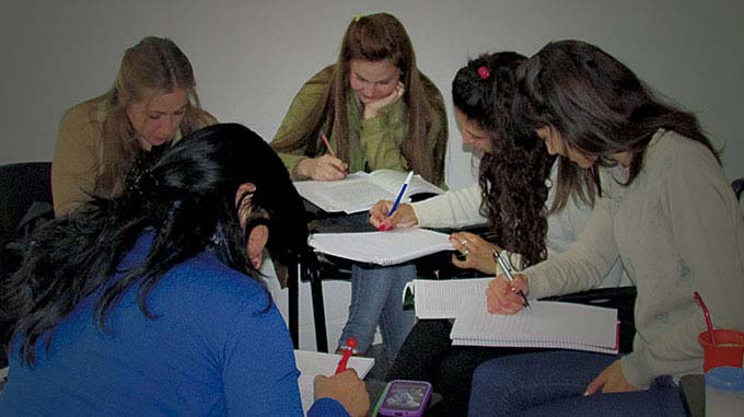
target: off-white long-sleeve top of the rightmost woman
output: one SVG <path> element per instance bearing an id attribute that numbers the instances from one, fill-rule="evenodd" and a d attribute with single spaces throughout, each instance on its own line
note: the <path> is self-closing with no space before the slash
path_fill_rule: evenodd
<path id="1" fill-rule="evenodd" d="M 612 188 L 574 245 L 524 271 L 530 297 L 589 289 L 619 256 L 638 290 L 633 351 L 621 359 L 628 382 L 702 373 L 706 323 L 694 291 L 716 327 L 744 331 L 739 202 L 710 151 L 673 131 L 656 132 L 635 181 Z"/>

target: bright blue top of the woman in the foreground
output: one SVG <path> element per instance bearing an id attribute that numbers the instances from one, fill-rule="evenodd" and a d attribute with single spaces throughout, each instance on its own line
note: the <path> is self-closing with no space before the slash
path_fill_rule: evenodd
<path id="1" fill-rule="evenodd" d="M 144 235 L 121 263 L 140 263 Z M 93 298 L 57 326 L 36 364 L 18 350 L 0 395 L 0 415 L 301 416 L 289 332 L 268 292 L 204 252 L 165 274 L 147 318 L 136 291 L 109 311 L 111 333 L 94 322 Z M 309 416 L 347 415 L 333 399 Z M 332 413 L 332 414 L 326 414 Z"/>

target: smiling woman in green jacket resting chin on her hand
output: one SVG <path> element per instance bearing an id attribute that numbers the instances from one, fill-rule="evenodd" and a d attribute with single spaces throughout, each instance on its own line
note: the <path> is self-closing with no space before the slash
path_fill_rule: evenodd
<path id="1" fill-rule="evenodd" d="M 325 143 L 327 138 L 328 144 Z M 271 147 L 293 179 L 337 181 L 349 172 L 415 171 L 444 185 L 447 129 L 440 91 L 416 67 L 403 24 L 387 13 L 357 16 L 346 30 L 338 61 L 307 81 L 287 112 Z M 367 225 L 367 213 L 345 219 Z M 364 352 L 380 324 L 392 359 L 414 325 L 400 293 L 412 264 L 352 266 L 349 337 Z"/>

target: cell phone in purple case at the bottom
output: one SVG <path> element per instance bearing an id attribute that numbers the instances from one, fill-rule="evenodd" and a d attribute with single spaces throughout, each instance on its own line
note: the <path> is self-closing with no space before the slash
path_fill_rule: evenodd
<path id="1" fill-rule="evenodd" d="M 420 417 L 431 397 L 431 384 L 426 381 L 393 380 L 385 386 L 377 415 Z"/>

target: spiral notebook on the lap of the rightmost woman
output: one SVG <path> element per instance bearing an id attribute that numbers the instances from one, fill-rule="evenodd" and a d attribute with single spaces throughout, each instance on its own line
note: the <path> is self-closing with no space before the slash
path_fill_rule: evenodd
<path id="1" fill-rule="evenodd" d="M 463 302 L 450 333 L 457 346 L 533 347 L 617 354 L 617 310 L 530 301 L 532 312 L 490 314 L 486 298 Z"/>

